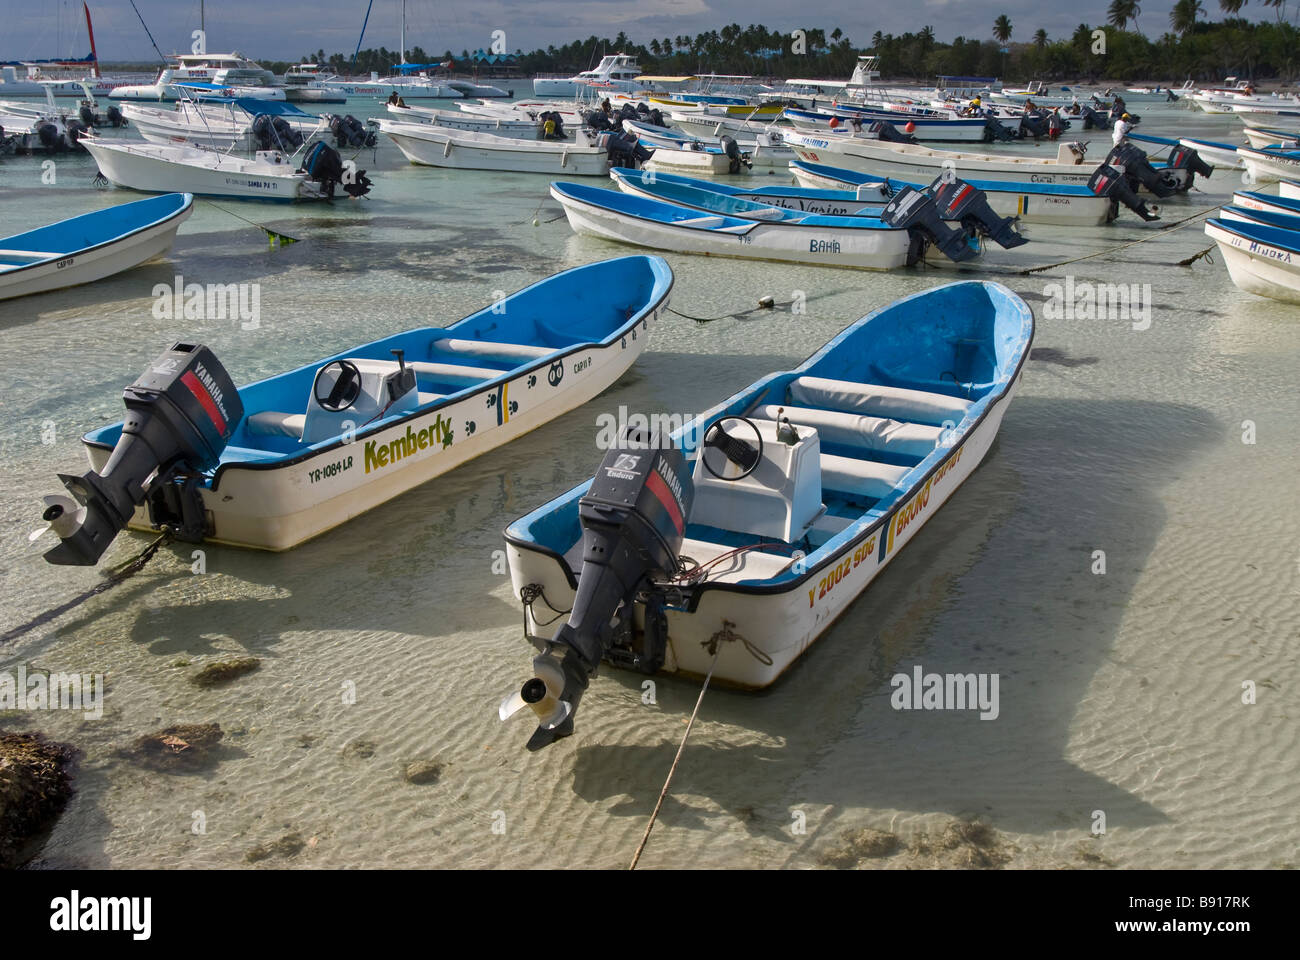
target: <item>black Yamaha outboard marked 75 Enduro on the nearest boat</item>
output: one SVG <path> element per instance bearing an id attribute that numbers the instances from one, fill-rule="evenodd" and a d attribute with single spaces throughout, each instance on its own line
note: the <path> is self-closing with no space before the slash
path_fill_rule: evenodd
<path id="1" fill-rule="evenodd" d="M 724 431 L 715 434 L 710 445 L 729 458 L 758 455 Z M 633 628 L 637 594 L 681 568 L 679 554 L 693 501 L 686 458 L 667 438 L 630 428 L 620 446 L 604 455 L 578 501 L 582 570 L 568 622 L 542 641 L 533 679 L 498 710 L 502 719 L 525 706 L 537 714 L 528 749 L 573 732 L 573 713 L 588 682 L 614 643 Z"/>

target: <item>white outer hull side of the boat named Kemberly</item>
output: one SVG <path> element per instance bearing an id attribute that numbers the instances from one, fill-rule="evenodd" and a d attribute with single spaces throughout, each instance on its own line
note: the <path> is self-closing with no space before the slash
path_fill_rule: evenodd
<path id="1" fill-rule="evenodd" d="M 621 377 L 645 350 L 649 328 L 658 325 L 667 303 L 666 295 L 646 315 L 640 329 L 624 341 L 582 347 L 556 359 L 551 368 L 560 364 L 562 375 L 554 389 L 530 390 L 528 380 L 537 375 L 525 371 L 504 386 L 485 388 L 373 437 L 324 450 L 295 463 L 260 470 L 238 463 L 224 467 L 217 489 L 202 492 L 212 518 L 212 535 L 207 539 L 234 546 L 287 550 L 545 425 L 594 399 Z M 493 407 L 485 406 L 488 394 L 497 397 Z M 491 419 L 485 416 L 485 410 L 493 408 L 503 411 L 502 423 L 491 423 L 495 414 Z M 419 434 L 439 421 L 450 424 L 450 445 L 430 444 L 398 463 L 380 464 L 376 451 L 406 437 L 408 431 Z M 467 424 L 473 424 L 472 432 Z M 110 454 L 103 446 L 88 444 L 86 451 L 96 471 Z M 136 510 L 130 526 L 151 529 L 147 510 Z"/>

